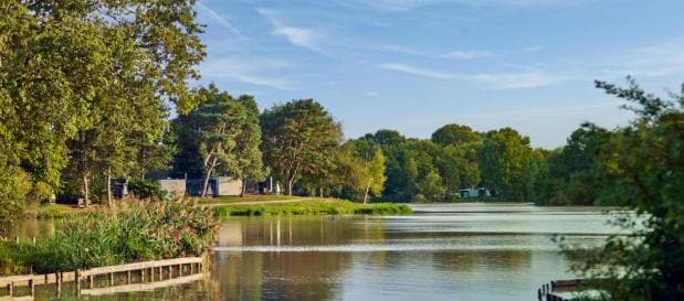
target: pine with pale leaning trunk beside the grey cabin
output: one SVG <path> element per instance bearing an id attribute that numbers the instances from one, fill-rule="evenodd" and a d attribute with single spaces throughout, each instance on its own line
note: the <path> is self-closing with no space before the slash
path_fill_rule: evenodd
<path id="1" fill-rule="evenodd" d="M 209 178 L 214 175 L 263 180 L 254 98 L 243 95 L 234 99 L 213 84 L 194 93 L 202 99 L 201 105 L 172 123 L 178 144 L 175 174 L 202 179 L 202 196 L 207 195 Z"/>

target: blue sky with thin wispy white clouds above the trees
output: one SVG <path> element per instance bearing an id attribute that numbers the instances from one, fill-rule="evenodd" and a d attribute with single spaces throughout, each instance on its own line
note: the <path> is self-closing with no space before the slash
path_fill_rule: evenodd
<path id="1" fill-rule="evenodd" d="M 262 109 L 314 98 L 347 138 L 430 138 L 446 123 L 512 127 L 556 148 L 581 122 L 633 116 L 593 80 L 633 76 L 656 95 L 684 82 L 684 1 L 200 0 L 197 85 Z"/>

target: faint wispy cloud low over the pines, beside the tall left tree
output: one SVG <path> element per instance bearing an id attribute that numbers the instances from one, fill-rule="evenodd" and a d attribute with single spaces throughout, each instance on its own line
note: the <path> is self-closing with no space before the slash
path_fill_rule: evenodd
<path id="1" fill-rule="evenodd" d="M 212 79 L 232 79 L 255 86 L 294 90 L 296 86 L 291 80 L 262 75 L 263 73 L 273 74 L 274 71 L 288 65 L 285 62 L 269 60 L 214 58 L 202 63 L 200 73 Z"/>

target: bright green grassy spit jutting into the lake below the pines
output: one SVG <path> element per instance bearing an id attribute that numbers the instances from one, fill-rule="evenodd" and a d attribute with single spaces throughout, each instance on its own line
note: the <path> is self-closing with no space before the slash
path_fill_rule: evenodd
<path id="1" fill-rule="evenodd" d="M 212 208 L 218 217 L 303 214 L 409 214 L 411 208 L 403 204 L 358 204 L 336 198 L 307 197 L 294 203 L 224 205 Z"/>

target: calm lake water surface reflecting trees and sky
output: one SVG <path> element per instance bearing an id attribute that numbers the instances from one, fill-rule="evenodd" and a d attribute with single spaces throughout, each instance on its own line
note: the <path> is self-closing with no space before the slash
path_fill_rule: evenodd
<path id="1" fill-rule="evenodd" d="M 555 235 L 597 246 L 615 232 L 590 207 L 414 209 L 406 216 L 232 218 L 202 280 L 90 300 L 536 300 L 539 284 L 573 277 Z M 21 234 L 50 230 L 32 227 Z M 40 293 L 39 300 L 52 295 L 49 288 Z"/>

